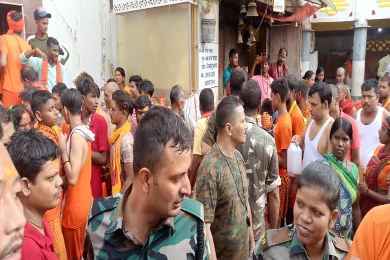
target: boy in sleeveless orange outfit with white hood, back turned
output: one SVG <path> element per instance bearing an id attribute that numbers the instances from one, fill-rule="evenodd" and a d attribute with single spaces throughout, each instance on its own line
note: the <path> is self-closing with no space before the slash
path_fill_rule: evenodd
<path id="1" fill-rule="evenodd" d="M 67 136 L 60 133 L 64 187 L 62 212 L 63 237 L 68 259 L 80 260 L 83 253 L 85 227 L 93 200 L 91 191 L 91 142 L 94 135 L 81 121 L 81 94 L 77 89 L 68 89 L 61 96 L 62 117 L 71 126 Z"/>

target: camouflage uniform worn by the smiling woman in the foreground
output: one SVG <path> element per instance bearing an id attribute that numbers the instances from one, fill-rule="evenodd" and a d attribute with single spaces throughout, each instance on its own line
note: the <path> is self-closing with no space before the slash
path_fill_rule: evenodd
<path id="1" fill-rule="evenodd" d="M 352 242 L 336 237 L 328 231 L 322 260 L 341 260 L 347 257 Z M 308 260 L 306 250 L 299 241 L 294 224 L 285 226 L 279 230 L 268 230 L 256 244 L 252 260 L 261 259 L 293 259 Z"/>

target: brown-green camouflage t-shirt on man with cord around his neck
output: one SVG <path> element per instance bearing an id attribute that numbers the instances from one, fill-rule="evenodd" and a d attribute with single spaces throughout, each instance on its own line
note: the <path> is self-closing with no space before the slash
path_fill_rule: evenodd
<path id="1" fill-rule="evenodd" d="M 211 223 L 218 260 L 247 259 L 248 189 L 241 154 L 236 150 L 232 158 L 225 159 L 215 144 L 199 167 L 195 193 L 205 207 L 205 222 Z"/>

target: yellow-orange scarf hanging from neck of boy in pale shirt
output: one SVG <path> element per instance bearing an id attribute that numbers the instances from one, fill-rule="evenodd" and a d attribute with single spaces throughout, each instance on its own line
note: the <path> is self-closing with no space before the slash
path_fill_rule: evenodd
<path id="1" fill-rule="evenodd" d="M 122 142 L 122 138 L 130 131 L 132 128 L 132 124 L 126 120 L 126 122 L 120 127 L 114 129 L 110 136 L 110 145 L 115 146 L 114 157 L 112 158 L 112 166 L 110 167 L 111 172 L 111 186 L 112 186 L 112 194 L 116 194 L 120 192 L 122 188 L 122 168 L 120 166 L 120 143 Z"/>

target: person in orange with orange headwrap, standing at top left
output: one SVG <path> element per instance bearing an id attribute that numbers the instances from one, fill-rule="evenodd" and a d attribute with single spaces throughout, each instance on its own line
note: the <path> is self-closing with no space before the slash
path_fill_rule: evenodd
<path id="1" fill-rule="evenodd" d="M 31 47 L 20 37 L 24 28 L 22 14 L 8 12 L 7 23 L 10 29 L 0 38 L 0 75 L 4 76 L 4 80 L 0 82 L 0 94 L 3 94 L 3 105 L 9 108 L 21 104 L 19 94 L 23 91 L 23 84 L 20 81 L 20 70 L 24 65 L 20 62 L 19 55 L 21 52 L 31 50 Z M 42 52 L 37 51 L 36 54 L 41 56 Z"/>

